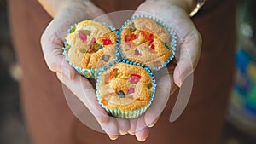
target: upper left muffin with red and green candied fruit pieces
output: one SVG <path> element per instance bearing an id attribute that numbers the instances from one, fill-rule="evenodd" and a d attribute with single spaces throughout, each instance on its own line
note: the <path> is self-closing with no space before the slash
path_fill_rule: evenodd
<path id="1" fill-rule="evenodd" d="M 96 78 L 103 66 L 114 62 L 117 37 L 105 24 L 84 20 L 69 30 L 64 54 L 78 72 Z"/>

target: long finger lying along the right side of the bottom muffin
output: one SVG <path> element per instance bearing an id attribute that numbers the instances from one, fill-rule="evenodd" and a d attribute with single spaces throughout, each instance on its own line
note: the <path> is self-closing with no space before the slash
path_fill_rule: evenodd
<path id="1" fill-rule="evenodd" d="M 163 70 L 160 71 L 159 74 Z M 173 83 L 172 75 L 164 75 L 160 78 L 157 78 L 157 87 L 154 95 L 154 102 L 150 107 L 148 107 L 148 110 L 145 112 L 145 123 L 148 127 L 152 126 L 154 124 L 154 121 L 156 121 L 157 118 L 159 118 L 160 113 L 164 110 L 166 107 L 166 103 L 169 99 L 169 96 L 175 91 L 177 86 Z"/>

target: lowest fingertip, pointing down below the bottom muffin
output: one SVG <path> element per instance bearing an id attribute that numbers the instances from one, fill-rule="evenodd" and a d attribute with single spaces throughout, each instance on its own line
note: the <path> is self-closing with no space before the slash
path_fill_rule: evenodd
<path id="1" fill-rule="evenodd" d="M 148 135 L 149 135 L 149 129 L 145 124 L 144 118 L 139 117 L 137 119 L 137 126 L 136 126 L 136 138 L 137 141 L 146 141 Z"/>

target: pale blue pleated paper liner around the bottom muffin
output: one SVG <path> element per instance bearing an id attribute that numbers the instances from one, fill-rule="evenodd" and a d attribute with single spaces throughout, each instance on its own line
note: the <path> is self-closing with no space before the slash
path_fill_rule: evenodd
<path id="1" fill-rule="evenodd" d="M 155 94 L 155 89 L 156 89 L 156 81 L 154 78 L 153 73 L 151 72 L 150 68 L 148 68 L 148 66 L 144 66 L 143 64 L 131 61 L 131 60 L 118 60 L 117 63 L 126 63 L 126 64 L 130 64 L 130 65 L 134 65 L 134 66 L 141 66 L 144 68 L 144 70 L 146 70 L 152 80 L 153 86 L 152 86 L 152 93 L 150 95 L 150 98 L 148 100 L 148 104 L 144 107 L 139 107 L 136 110 L 133 111 L 122 111 L 119 109 L 110 109 L 107 106 L 102 104 L 102 97 L 99 95 L 99 91 L 98 91 L 98 86 L 100 84 L 100 79 L 102 77 L 102 73 L 100 72 L 98 77 L 96 78 L 96 97 L 97 100 L 99 101 L 99 104 L 111 115 L 113 115 L 113 117 L 117 117 L 117 118 L 137 118 L 141 115 L 143 115 L 144 112 L 146 112 L 146 110 L 148 109 L 148 107 L 150 107 L 152 101 L 154 100 L 154 94 Z M 107 68 L 105 67 L 104 70 L 108 70 L 111 66 L 108 66 Z"/>

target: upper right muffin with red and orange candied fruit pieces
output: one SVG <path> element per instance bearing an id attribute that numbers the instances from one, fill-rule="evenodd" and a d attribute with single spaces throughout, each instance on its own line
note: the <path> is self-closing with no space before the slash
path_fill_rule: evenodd
<path id="1" fill-rule="evenodd" d="M 128 20 L 121 28 L 121 55 L 152 70 L 166 66 L 172 60 L 175 49 L 175 33 L 160 20 L 137 16 Z"/>

